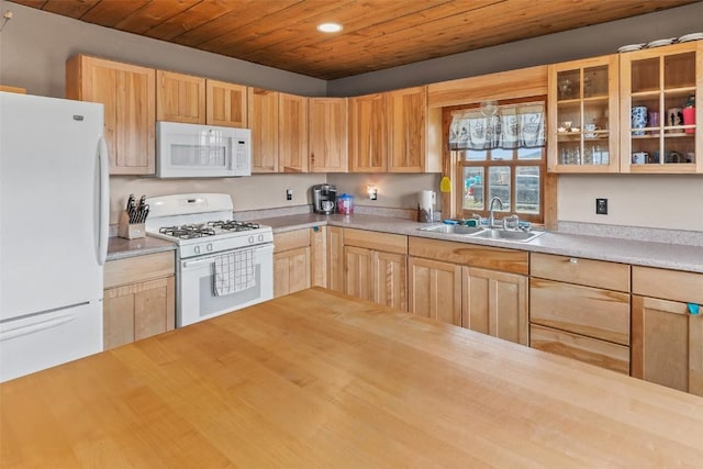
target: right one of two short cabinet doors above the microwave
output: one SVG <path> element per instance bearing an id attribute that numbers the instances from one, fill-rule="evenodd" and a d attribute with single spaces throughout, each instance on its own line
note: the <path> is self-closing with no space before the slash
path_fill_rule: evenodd
<path id="1" fill-rule="evenodd" d="M 243 85 L 205 80 L 207 123 L 223 127 L 247 126 L 247 93 Z"/>

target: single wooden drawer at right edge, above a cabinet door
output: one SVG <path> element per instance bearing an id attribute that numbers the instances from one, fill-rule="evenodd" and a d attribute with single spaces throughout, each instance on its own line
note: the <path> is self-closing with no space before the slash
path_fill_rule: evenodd
<path id="1" fill-rule="evenodd" d="M 634 266 L 633 293 L 703 304 L 703 273 Z"/>

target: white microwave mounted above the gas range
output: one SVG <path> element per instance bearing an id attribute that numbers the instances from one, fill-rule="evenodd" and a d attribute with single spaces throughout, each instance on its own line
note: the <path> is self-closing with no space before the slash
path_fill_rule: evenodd
<path id="1" fill-rule="evenodd" d="M 156 176 L 228 178 L 252 175 L 252 131 L 156 123 Z"/>

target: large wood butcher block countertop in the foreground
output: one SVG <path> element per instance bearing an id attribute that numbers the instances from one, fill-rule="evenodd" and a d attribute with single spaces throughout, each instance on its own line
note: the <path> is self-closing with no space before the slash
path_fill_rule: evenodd
<path id="1" fill-rule="evenodd" d="M 0 467 L 698 467 L 703 399 L 310 289 L 0 384 Z"/>

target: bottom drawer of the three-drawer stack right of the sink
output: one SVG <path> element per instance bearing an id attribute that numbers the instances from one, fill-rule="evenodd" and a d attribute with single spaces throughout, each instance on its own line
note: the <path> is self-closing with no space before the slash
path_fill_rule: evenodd
<path id="1" fill-rule="evenodd" d="M 629 347 L 538 325 L 529 326 L 529 346 L 629 375 Z"/>

